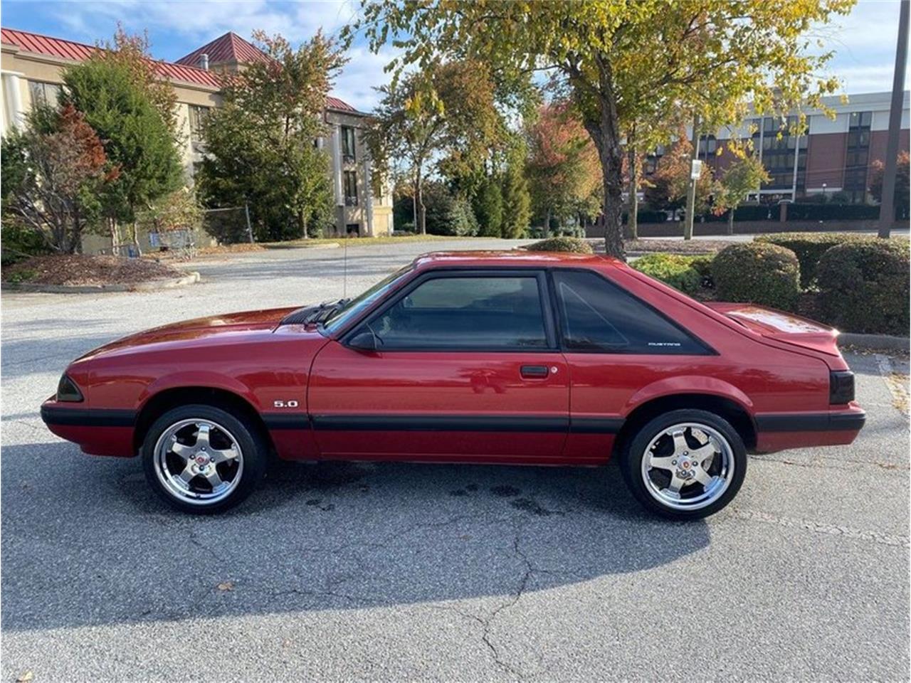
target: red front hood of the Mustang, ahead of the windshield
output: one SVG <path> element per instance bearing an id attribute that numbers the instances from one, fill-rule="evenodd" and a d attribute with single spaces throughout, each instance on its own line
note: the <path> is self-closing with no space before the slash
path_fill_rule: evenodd
<path id="1" fill-rule="evenodd" d="M 239 342 L 243 337 L 270 334 L 281 319 L 294 310 L 293 308 L 282 308 L 242 311 L 174 322 L 130 334 L 104 346 L 99 346 L 78 358 L 77 361 L 87 361 L 101 355 L 110 356 L 121 352 L 131 352 L 138 348 L 148 350 L 151 347 L 175 344 L 194 346 L 198 343 Z"/>

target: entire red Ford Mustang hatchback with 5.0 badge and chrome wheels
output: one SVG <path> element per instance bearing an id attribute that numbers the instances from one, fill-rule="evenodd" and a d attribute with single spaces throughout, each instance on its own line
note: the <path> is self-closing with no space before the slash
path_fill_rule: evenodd
<path id="1" fill-rule="evenodd" d="M 73 362 L 41 406 L 88 454 L 140 454 L 187 512 L 287 460 L 599 465 L 678 518 L 727 505 L 747 452 L 851 443 L 837 332 L 693 301 L 619 260 L 437 253 L 352 300 L 200 318 Z"/>

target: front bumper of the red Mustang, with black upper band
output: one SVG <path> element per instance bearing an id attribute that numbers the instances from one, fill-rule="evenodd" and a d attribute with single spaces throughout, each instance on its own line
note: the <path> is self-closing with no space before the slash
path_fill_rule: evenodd
<path id="1" fill-rule="evenodd" d="M 77 443 L 84 453 L 130 457 L 136 413 L 123 410 L 86 408 L 83 403 L 58 402 L 49 398 L 41 404 L 41 419 L 61 439 Z"/>

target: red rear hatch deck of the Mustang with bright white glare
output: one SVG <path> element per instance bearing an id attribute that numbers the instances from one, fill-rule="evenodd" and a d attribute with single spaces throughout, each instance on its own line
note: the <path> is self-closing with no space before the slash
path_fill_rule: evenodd
<path id="1" fill-rule="evenodd" d="M 838 331 L 820 322 L 752 303 L 706 301 L 705 305 L 768 339 L 829 355 L 840 355 L 836 344 Z"/>

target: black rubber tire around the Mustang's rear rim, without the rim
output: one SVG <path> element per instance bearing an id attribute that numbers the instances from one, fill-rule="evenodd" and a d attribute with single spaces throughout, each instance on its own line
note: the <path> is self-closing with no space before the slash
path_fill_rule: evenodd
<path id="1" fill-rule="evenodd" d="M 731 447 L 733 471 L 728 477 L 730 482 L 723 493 L 711 503 L 696 509 L 679 509 L 671 507 L 660 501 L 656 495 L 650 493 L 650 488 L 644 481 L 642 474 L 642 460 L 646 456 L 646 449 L 652 439 L 675 424 L 697 423 L 710 427 L 721 434 Z M 659 443 L 660 445 L 660 443 Z M 716 456 L 717 458 L 717 456 Z M 620 452 L 620 471 L 623 479 L 630 488 L 630 493 L 640 504 L 652 513 L 670 519 L 688 520 L 701 519 L 713 515 L 728 505 L 733 497 L 740 491 L 743 477 L 746 475 L 746 447 L 737 430 L 731 423 L 715 413 L 702 410 L 675 410 L 664 413 L 650 420 L 640 429 L 626 439 Z M 653 470 L 652 470 L 653 472 Z"/>

